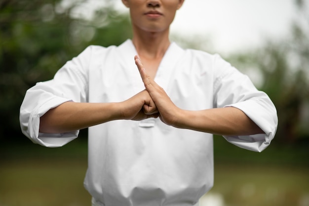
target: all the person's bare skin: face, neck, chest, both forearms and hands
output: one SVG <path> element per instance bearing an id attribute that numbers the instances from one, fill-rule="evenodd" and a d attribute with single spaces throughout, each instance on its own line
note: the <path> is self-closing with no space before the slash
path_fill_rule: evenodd
<path id="1" fill-rule="evenodd" d="M 65 102 L 40 118 L 40 132 L 63 133 L 113 120 L 139 121 L 159 117 L 163 123 L 174 127 L 220 135 L 264 133 L 236 108 L 182 110 L 171 101 L 162 87 L 154 82 L 158 65 L 170 45 L 170 24 L 184 0 L 122 2 L 130 10 L 132 42 L 139 54 L 135 56 L 135 63 L 146 89 L 123 102 Z"/>

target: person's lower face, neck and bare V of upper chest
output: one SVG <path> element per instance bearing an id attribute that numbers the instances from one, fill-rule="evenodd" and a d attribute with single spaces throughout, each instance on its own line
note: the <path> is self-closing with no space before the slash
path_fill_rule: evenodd
<path id="1" fill-rule="evenodd" d="M 122 0 L 122 2 L 130 10 L 133 44 L 148 74 L 154 78 L 170 44 L 170 24 L 184 0 Z M 151 16 L 149 13 L 152 12 L 159 14 L 157 17 Z"/>

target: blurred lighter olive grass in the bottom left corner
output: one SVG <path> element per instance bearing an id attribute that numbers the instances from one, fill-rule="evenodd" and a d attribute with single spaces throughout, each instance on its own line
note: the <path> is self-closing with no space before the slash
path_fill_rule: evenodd
<path id="1" fill-rule="evenodd" d="M 86 159 L 15 160 L 1 165 L 0 206 L 89 206 Z"/>

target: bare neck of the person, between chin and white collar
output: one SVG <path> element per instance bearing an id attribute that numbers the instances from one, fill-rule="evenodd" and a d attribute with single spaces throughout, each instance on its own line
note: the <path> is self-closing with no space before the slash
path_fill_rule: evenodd
<path id="1" fill-rule="evenodd" d="M 170 45 L 169 31 L 145 32 L 133 28 L 132 42 L 140 57 L 147 59 L 162 59 Z"/>

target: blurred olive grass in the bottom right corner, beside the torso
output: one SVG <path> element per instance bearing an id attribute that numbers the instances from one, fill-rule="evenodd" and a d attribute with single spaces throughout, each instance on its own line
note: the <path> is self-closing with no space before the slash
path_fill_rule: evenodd
<path id="1" fill-rule="evenodd" d="M 301 167 L 216 164 L 209 194 L 221 194 L 228 206 L 309 206 L 308 174 Z"/>

